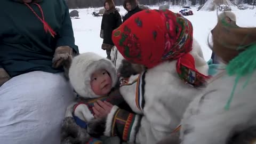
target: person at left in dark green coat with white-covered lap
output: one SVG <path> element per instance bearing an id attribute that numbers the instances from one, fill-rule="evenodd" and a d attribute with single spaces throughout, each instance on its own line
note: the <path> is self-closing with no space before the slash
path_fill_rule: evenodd
<path id="1" fill-rule="evenodd" d="M 63 72 L 79 53 L 68 6 L 63 0 L 0 3 L 1 143 L 59 143 L 73 100 Z"/>

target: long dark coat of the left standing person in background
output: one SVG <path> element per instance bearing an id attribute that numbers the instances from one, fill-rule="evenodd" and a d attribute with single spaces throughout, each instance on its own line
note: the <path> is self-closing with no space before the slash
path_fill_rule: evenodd
<path id="1" fill-rule="evenodd" d="M 117 10 L 104 13 L 101 21 L 101 29 L 103 30 L 103 44 L 113 45 L 112 31 L 122 24 L 121 15 Z"/>

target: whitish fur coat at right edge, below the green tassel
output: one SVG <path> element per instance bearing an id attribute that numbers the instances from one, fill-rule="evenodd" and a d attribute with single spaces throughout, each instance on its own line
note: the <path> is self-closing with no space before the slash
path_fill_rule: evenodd
<path id="1" fill-rule="evenodd" d="M 255 138 L 255 74 L 245 88 L 247 77 L 238 81 L 228 110 L 225 106 L 236 77 L 229 77 L 225 72 L 217 77 L 188 106 L 181 122 L 182 144 L 247 144 Z"/>

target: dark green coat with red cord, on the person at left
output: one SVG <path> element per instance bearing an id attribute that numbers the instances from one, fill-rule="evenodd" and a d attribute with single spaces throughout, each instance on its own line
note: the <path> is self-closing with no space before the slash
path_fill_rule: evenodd
<path id="1" fill-rule="evenodd" d="M 0 68 L 11 77 L 30 71 L 58 73 L 63 69 L 52 68 L 54 51 L 59 46 L 70 46 L 78 53 L 68 7 L 63 0 L 44 0 L 42 7 L 45 21 L 57 35 L 46 33 L 39 7 L 29 4 L 33 13 L 17 0 L 0 2 Z"/>

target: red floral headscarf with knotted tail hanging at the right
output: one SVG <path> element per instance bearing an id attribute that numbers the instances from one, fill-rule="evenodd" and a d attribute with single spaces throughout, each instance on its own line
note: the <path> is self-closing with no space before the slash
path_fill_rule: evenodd
<path id="1" fill-rule="evenodd" d="M 163 61 L 177 60 L 177 73 L 186 83 L 200 86 L 208 78 L 207 73 L 197 69 L 203 65 L 208 70 L 208 66 L 200 46 L 194 50 L 196 53 L 192 51 L 196 43 L 193 26 L 180 14 L 169 10 L 135 13 L 113 31 L 112 39 L 118 51 L 132 63 L 153 68 Z"/>

